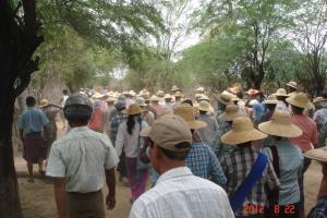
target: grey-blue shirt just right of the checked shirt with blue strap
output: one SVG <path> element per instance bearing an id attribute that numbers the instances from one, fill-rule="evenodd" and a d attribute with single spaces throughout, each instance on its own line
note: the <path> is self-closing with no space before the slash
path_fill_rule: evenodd
<path id="1" fill-rule="evenodd" d="M 279 205 L 294 204 L 300 201 L 298 179 L 302 172 L 303 155 L 301 149 L 288 140 L 276 141 L 279 156 Z M 264 148 L 272 162 L 269 147 Z"/>

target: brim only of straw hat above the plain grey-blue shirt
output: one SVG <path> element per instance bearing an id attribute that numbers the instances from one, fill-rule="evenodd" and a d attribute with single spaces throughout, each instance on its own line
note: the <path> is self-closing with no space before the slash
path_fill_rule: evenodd
<path id="1" fill-rule="evenodd" d="M 298 137 L 302 135 L 302 130 L 294 124 L 279 124 L 272 121 L 264 122 L 258 125 L 258 129 L 269 135 L 281 137 Z"/>

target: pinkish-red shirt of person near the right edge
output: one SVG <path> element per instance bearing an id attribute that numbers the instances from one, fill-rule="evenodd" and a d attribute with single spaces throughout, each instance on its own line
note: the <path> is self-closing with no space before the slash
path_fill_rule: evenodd
<path id="1" fill-rule="evenodd" d="M 289 138 L 291 143 L 298 145 L 302 153 L 312 149 L 311 144 L 318 144 L 317 125 L 315 121 L 304 114 L 292 116 L 292 123 L 298 125 L 303 134 L 299 137 Z"/>

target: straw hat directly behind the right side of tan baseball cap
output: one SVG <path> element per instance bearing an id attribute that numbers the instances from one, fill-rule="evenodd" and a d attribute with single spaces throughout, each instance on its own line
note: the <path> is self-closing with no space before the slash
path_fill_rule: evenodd
<path id="1" fill-rule="evenodd" d="M 180 105 L 173 109 L 173 114 L 179 116 L 185 120 L 191 130 L 203 129 L 207 123 L 195 120 L 196 109 L 190 105 Z"/>

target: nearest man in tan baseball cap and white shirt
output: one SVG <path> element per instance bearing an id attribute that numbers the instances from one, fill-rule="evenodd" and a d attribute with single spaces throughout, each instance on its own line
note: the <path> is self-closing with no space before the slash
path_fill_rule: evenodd
<path id="1" fill-rule="evenodd" d="M 185 167 L 192 135 L 182 118 L 159 118 L 149 132 L 149 154 L 160 174 L 156 186 L 133 204 L 130 218 L 232 218 L 226 192 Z"/>

